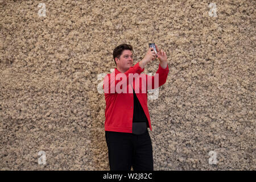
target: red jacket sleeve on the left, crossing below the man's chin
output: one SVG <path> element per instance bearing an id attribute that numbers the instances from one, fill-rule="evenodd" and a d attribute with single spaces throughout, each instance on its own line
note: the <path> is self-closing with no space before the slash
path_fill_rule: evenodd
<path id="1" fill-rule="evenodd" d="M 133 67 L 130 67 L 125 73 L 118 73 L 117 75 L 115 72 L 112 72 L 104 77 L 104 83 L 103 83 L 103 89 L 104 93 L 112 93 L 114 90 L 114 93 L 117 93 L 115 90 L 115 86 L 118 84 L 118 82 L 126 81 L 126 86 L 130 84 L 130 82 L 133 82 L 132 79 L 129 80 L 129 74 L 135 74 L 138 73 L 141 74 L 141 72 L 144 71 L 144 68 L 142 69 L 139 66 L 139 62 L 135 64 Z M 125 80 L 123 80 L 125 79 Z M 130 81 L 130 82 L 129 82 Z M 105 85 L 106 89 L 105 89 Z"/>

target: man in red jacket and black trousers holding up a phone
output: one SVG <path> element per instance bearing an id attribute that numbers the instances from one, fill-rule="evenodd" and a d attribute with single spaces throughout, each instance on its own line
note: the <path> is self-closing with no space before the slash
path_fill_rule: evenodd
<path id="1" fill-rule="evenodd" d="M 156 53 L 157 52 L 157 53 Z M 152 131 L 147 107 L 147 92 L 163 85 L 169 72 L 167 55 L 163 50 L 149 48 L 146 56 L 133 65 L 133 47 L 121 44 L 113 51 L 114 72 L 104 78 L 105 137 L 109 151 L 110 170 L 152 171 Z M 146 64 L 158 57 L 155 76 L 142 73 Z M 143 86 L 144 85 L 144 86 Z M 145 86 L 146 85 L 146 86 Z M 145 90 L 144 90 L 145 91 Z"/>

